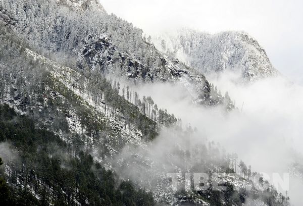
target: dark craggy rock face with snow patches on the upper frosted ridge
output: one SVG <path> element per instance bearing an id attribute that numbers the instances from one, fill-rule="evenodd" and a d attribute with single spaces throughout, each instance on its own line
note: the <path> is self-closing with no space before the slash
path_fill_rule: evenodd
<path id="1" fill-rule="evenodd" d="M 197 104 L 215 106 L 222 104 L 224 98 L 219 96 L 204 75 L 191 74 L 179 61 L 169 57 L 159 57 L 158 67 L 150 68 L 134 56 L 121 53 L 113 45 L 111 36 L 88 34 L 83 47 L 78 53 L 77 65 L 83 70 L 85 65 L 92 70 L 99 69 L 106 74 L 118 74 L 135 82 L 178 82 L 183 79 L 190 84 L 188 89 L 195 93 L 193 100 Z M 143 59 L 144 60 L 144 59 Z M 233 108 L 232 104 L 229 107 Z"/>

